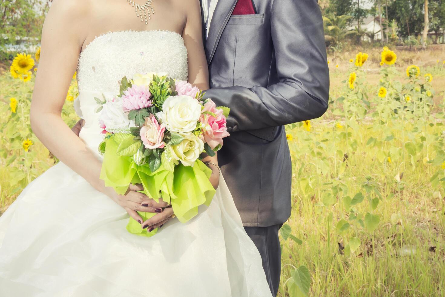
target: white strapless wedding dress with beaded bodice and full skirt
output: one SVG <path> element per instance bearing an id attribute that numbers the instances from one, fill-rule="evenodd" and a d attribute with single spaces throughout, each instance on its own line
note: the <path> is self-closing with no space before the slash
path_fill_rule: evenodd
<path id="1" fill-rule="evenodd" d="M 118 94 L 121 77 L 148 72 L 187 80 L 179 34 L 110 32 L 81 54 L 76 104 L 86 125 L 80 137 L 93 152 L 101 134 L 92 95 Z M 128 219 L 122 207 L 58 163 L 0 216 L 0 296 L 271 296 L 222 176 L 210 206 L 186 224 L 172 219 L 147 238 L 127 232 Z"/>

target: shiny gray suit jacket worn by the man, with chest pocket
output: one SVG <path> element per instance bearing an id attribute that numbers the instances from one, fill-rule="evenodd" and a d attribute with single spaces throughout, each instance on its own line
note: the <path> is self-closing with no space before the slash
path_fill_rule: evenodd
<path id="1" fill-rule="evenodd" d="M 328 108 L 323 20 L 317 0 L 253 0 L 256 14 L 232 15 L 236 2 L 219 0 L 214 11 L 206 98 L 231 108 L 218 162 L 243 224 L 266 227 L 291 214 L 283 125 Z"/>

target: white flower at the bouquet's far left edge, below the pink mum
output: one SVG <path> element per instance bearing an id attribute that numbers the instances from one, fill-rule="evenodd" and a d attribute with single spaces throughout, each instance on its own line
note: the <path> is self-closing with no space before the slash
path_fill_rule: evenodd
<path id="1" fill-rule="evenodd" d="M 128 115 L 122 109 L 122 100 L 115 98 L 114 101 L 103 105 L 99 120 L 103 121 L 105 130 L 113 133 L 129 133 L 130 127 L 134 127 L 134 121 L 128 119 Z"/>

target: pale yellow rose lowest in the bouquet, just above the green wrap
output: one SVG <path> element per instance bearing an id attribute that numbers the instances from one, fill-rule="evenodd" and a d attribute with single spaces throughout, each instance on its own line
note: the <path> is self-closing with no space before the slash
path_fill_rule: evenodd
<path id="1" fill-rule="evenodd" d="M 184 166 L 193 167 L 194 162 L 204 151 L 204 142 L 192 132 L 181 134 L 184 140 L 176 146 L 171 146 L 173 159 L 181 161 Z"/>

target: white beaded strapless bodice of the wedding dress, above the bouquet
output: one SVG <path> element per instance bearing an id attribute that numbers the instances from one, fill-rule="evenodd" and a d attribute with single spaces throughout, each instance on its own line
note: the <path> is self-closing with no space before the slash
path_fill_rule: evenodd
<path id="1" fill-rule="evenodd" d="M 119 93 L 118 81 L 136 73 L 168 73 L 187 81 L 187 49 L 172 31 L 117 31 L 102 34 L 79 57 L 79 91 Z"/>

